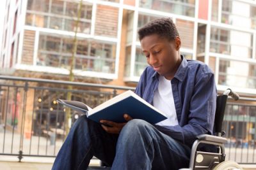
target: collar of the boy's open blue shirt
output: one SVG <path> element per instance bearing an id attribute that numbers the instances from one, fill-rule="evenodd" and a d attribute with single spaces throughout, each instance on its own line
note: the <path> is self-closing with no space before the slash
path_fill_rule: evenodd
<path id="1" fill-rule="evenodd" d="M 186 69 L 188 67 L 188 61 L 186 60 L 186 58 L 183 55 L 180 55 L 182 61 L 180 63 L 179 68 L 177 69 L 174 77 L 177 78 L 179 81 L 183 81 L 184 80 L 184 76 L 186 73 Z M 155 71 L 155 73 L 152 75 L 152 78 L 159 78 L 159 74 Z"/>

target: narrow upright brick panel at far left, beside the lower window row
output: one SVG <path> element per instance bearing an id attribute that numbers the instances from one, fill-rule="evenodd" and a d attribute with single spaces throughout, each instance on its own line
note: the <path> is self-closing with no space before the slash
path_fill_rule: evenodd
<path id="1" fill-rule="evenodd" d="M 35 31 L 25 30 L 21 64 L 33 64 L 34 43 Z"/>

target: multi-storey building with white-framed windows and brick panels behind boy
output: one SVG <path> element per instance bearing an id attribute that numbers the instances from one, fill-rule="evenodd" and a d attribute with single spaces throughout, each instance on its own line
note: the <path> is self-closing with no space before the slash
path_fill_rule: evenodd
<path id="1" fill-rule="evenodd" d="M 256 139 L 254 119 L 244 119 L 256 116 L 256 1 L 83 0 L 81 8 L 73 69 L 80 81 L 136 86 L 147 66 L 137 31 L 170 17 L 180 52 L 211 67 L 219 93 L 231 87 L 242 96 L 228 104 L 227 136 Z M 1 74 L 68 80 L 78 9 L 79 1 L 7 0 Z"/>

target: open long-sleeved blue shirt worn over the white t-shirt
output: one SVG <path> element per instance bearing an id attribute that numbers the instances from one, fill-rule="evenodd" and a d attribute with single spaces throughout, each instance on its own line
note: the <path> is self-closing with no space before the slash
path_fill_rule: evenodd
<path id="1" fill-rule="evenodd" d="M 156 128 L 191 146 L 199 134 L 212 134 L 217 92 L 214 74 L 206 64 L 181 57 L 179 69 L 171 80 L 179 125 L 156 125 Z M 136 94 L 152 105 L 158 78 L 159 74 L 148 66 L 135 90 Z"/>

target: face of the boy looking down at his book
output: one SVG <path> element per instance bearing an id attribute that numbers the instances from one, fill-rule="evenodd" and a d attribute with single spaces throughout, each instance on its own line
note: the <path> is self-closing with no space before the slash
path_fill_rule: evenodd
<path id="1" fill-rule="evenodd" d="M 172 80 L 182 60 L 179 54 L 180 38 L 169 41 L 152 34 L 141 39 L 141 48 L 148 64 L 158 74 Z"/>

